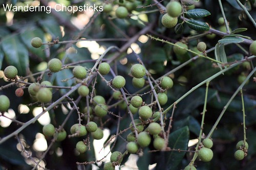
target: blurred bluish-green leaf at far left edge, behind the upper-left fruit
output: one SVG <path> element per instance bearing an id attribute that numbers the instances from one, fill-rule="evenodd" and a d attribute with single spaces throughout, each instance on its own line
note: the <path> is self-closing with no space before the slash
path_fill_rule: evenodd
<path id="1" fill-rule="evenodd" d="M 18 76 L 25 76 L 29 67 L 29 54 L 25 45 L 20 42 L 18 35 L 5 37 L 1 46 L 6 62 L 18 69 Z"/>

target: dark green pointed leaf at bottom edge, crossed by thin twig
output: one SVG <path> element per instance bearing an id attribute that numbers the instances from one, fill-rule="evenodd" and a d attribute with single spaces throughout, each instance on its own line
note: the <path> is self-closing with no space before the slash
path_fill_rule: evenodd
<path id="1" fill-rule="evenodd" d="M 189 139 L 188 127 L 183 127 L 169 135 L 168 147 L 171 149 L 187 150 L 187 143 Z M 178 165 L 182 161 L 186 152 L 172 151 L 168 155 L 167 169 L 178 169 Z"/>

